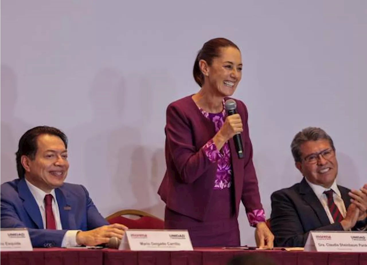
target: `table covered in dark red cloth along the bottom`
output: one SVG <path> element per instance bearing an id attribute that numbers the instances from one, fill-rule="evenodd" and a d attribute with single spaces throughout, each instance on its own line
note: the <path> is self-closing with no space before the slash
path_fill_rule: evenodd
<path id="1" fill-rule="evenodd" d="M 1 265 L 225 265 L 237 254 L 259 252 L 279 265 L 367 265 L 367 253 L 317 253 L 282 250 L 118 251 L 113 249 L 34 249 L 0 252 Z"/>

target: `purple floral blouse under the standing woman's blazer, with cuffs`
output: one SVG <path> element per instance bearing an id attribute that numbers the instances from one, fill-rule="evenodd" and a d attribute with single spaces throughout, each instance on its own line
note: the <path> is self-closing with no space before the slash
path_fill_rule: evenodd
<path id="1" fill-rule="evenodd" d="M 223 101 L 224 105 L 224 101 Z M 221 113 L 208 113 L 199 108 L 201 113 L 207 119 L 214 122 L 215 132 L 217 133 L 225 121 L 226 110 L 223 108 Z M 214 181 L 214 189 L 226 189 L 232 185 L 232 164 L 229 144 L 226 142 L 221 151 L 217 150 L 213 139 L 210 139 L 204 146 L 203 151 L 207 155 L 210 162 L 217 162 L 217 176 Z M 259 222 L 265 222 L 264 209 L 257 209 L 247 213 L 248 222 L 252 227 L 255 227 Z"/>

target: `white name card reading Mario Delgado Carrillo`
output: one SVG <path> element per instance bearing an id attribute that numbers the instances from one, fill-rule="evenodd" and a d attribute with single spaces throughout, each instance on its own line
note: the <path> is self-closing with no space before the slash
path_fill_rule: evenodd
<path id="1" fill-rule="evenodd" d="M 119 250 L 190 251 L 193 248 L 187 230 L 127 229 Z"/>

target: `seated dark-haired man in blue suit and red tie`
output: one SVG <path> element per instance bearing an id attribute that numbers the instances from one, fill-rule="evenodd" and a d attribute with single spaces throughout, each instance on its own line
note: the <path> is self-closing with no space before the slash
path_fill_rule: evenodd
<path id="1" fill-rule="evenodd" d="M 19 179 L 0 185 L 0 228 L 28 228 L 33 247 L 96 246 L 127 229 L 109 225 L 82 185 L 64 183 L 68 139 L 39 126 L 19 140 Z"/>

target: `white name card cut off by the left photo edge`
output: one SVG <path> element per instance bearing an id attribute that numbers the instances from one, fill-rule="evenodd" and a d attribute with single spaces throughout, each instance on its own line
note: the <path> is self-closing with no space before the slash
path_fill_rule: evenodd
<path id="1" fill-rule="evenodd" d="M 32 251 L 26 228 L 1 228 L 0 251 Z"/>

